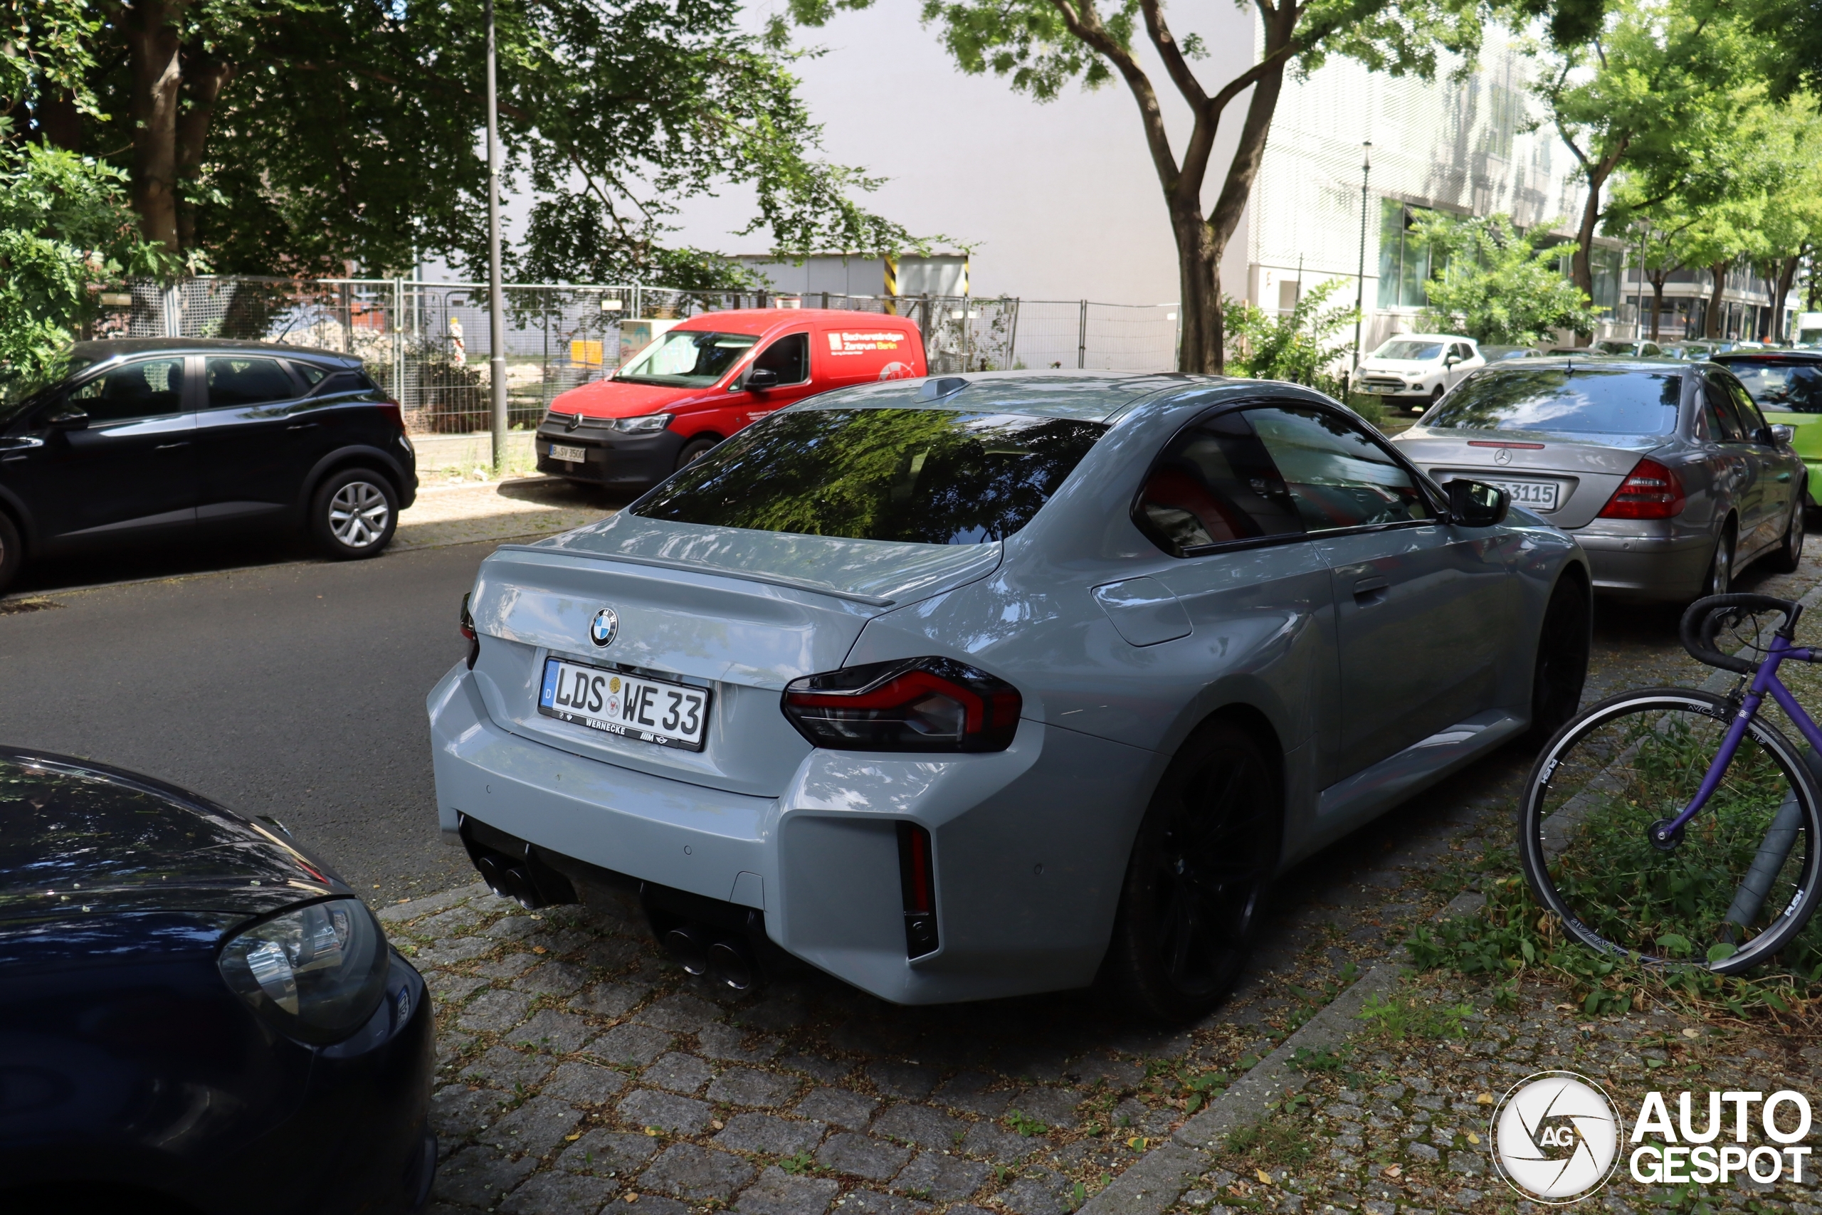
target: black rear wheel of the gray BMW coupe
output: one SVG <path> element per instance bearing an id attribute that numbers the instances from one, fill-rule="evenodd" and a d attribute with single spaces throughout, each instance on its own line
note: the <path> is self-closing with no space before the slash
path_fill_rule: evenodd
<path id="1" fill-rule="evenodd" d="M 1204 1016 L 1246 964 L 1283 831 L 1275 767 L 1230 721 L 1195 730 L 1133 840 L 1102 980 L 1141 1016 Z"/>

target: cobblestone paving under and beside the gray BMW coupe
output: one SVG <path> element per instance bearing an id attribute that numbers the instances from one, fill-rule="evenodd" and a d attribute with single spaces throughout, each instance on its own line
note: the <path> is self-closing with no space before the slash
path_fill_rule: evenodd
<path id="1" fill-rule="evenodd" d="M 1817 581 L 1822 568 L 1806 561 L 1742 588 L 1796 597 Z M 1707 670 L 1682 658 L 1674 619 L 1607 610 L 1589 699 L 1700 681 Z M 1332 1060 L 1339 1071 L 1312 1071 L 1250 1146 L 1204 1142 L 1184 1124 L 1474 880 L 1507 842 L 1527 767 L 1521 749 L 1496 754 L 1286 874 L 1233 998 L 1175 1033 L 1133 1029 L 1086 993 L 906 1009 L 807 969 L 736 998 L 670 967 L 641 924 L 610 909 L 528 914 L 481 887 L 388 907 L 439 1016 L 434 1210 L 1509 1208 L 1514 1195 L 1487 1179 L 1474 1138 L 1485 1138 L 1481 1093 L 1576 1060 L 1560 1066 L 1612 1080 L 1636 1108 L 1627 1084 L 1656 1071 L 1640 1060 L 1702 1067 L 1698 1087 L 1722 1062 L 1762 1060 L 1733 1038 L 1684 1038 L 1663 1013 L 1589 1026 L 1549 989 L 1503 1011 L 1421 980 L 1401 998 L 1465 1004 L 1467 1018 L 1418 1016 L 1405 1044 L 1376 1046 L 1365 1031 L 1361 1049 Z M 1438 1016 L 1469 1036 L 1423 1038 Z M 1139 1182 L 1108 1188 L 1141 1160 Z"/>

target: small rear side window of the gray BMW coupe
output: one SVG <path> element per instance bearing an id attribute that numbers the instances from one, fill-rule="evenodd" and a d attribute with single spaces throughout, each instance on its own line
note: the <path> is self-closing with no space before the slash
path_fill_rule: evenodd
<path id="1" fill-rule="evenodd" d="M 1303 532 L 1285 479 L 1237 412 L 1172 439 L 1139 492 L 1133 523 L 1173 557 L 1208 545 Z"/>

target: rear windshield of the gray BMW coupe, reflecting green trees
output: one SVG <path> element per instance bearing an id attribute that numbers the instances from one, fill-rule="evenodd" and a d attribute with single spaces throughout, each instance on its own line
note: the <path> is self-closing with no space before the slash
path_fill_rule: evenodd
<path id="1" fill-rule="evenodd" d="M 916 545 L 1006 539 L 1104 423 L 953 410 L 802 410 L 747 426 L 630 508 L 647 519 Z"/>

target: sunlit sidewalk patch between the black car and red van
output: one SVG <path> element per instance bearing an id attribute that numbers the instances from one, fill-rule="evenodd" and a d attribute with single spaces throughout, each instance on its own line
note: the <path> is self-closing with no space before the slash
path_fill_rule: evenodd
<path id="1" fill-rule="evenodd" d="M 432 485 L 399 512 L 395 550 L 476 541 L 536 539 L 605 519 L 618 510 L 599 492 L 559 477 Z"/>

